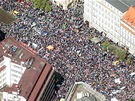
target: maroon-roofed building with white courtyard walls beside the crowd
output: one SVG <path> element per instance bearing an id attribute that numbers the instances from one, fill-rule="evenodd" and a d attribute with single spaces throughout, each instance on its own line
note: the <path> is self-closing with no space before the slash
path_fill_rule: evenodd
<path id="1" fill-rule="evenodd" d="M 0 43 L 2 101 L 50 101 L 55 71 L 23 42 L 8 37 Z"/>

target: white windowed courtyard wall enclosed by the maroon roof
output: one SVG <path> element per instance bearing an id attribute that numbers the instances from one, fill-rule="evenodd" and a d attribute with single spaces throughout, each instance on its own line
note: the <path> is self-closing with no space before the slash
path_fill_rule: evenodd
<path id="1" fill-rule="evenodd" d="M 11 62 L 11 59 L 4 56 L 3 62 L 0 63 L 1 67 L 6 66 L 5 70 L 0 72 L 0 88 L 5 84 L 12 86 L 18 84 L 26 67 Z"/>

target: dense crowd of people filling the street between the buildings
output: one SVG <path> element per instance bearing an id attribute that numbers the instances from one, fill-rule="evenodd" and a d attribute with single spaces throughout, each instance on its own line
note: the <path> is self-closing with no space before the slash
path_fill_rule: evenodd
<path id="1" fill-rule="evenodd" d="M 101 33 L 91 33 L 88 24 L 83 21 L 83 2 L 65 11 L 62 7 L 51 5 L 49 13 L 34 9 L 32 3 L 26 7 L 13 0 L 4 1 L 1 7 L 8 12 L 19 12 L 16 22 L 0 24 L 0 30 L 7 33 L 6 37 L 14 37 L 36 50 L 64 78 L 56 91 L 55 101 L 64 98 L 69 88 L 78 81 L 91 85 L 108 101 L 113 97 L 119 101 L 135 98 L 135 77 L 130 75 L 135 72 L 135 64 L 119 61 L 113 65 L 117 58 L 108 51 L 103 52 L 102 47 L 89 40 L 90 35 L 101 36 Z M 53 45 L 55 49 L 48 50 L 48 45 Z"/>

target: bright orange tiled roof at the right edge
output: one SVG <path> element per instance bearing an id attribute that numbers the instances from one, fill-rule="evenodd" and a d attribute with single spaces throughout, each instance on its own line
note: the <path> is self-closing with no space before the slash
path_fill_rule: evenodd
<path id="1" fill-rule="evenodd" d="M 135 28 L 135 6 L 131 6 L 125 15 L 122 17 L 122 20 L 127 23 L 129 26 Z"/>

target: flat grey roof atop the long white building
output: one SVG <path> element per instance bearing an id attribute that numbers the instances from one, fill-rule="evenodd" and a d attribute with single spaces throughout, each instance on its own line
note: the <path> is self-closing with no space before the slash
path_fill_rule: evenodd
<path id="1" fill-rule="evenodd" d="M 131 5 L 135 5 L 135 0 L 106 0 L 106 1 L 123 13 L 127 11 Z"/>

